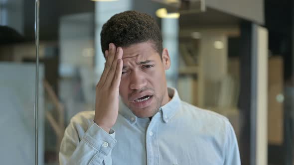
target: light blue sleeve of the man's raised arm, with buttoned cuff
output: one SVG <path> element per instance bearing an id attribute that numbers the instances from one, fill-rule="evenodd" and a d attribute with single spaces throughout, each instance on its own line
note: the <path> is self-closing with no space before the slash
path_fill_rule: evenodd
<path id="1" fill-rule="evenodd" d="M 107 133 L 92 122 L 82 139 L 84 130 L 71 122 L 66 128 L 59 152 L 60 165 L 112 165 L 111 151 L 116 145 L 115 131 Z"/>

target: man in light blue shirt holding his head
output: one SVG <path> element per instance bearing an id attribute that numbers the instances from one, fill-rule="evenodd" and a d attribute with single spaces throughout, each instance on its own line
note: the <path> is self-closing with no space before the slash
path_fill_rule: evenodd
<path id="1" fill-rule="evenodd" d="M 167 87 L 170 58 L 151 16 L 112 16 L 103 25 L 101 46 L 106 64 L 95 111 L 72 118 L 61 165 L 240 165 L 230 122 L 181 101 Z"/>

